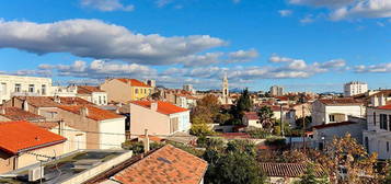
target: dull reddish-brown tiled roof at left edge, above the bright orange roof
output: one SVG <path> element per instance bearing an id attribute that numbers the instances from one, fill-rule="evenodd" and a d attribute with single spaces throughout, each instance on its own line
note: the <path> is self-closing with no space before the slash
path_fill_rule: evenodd
<path id="1" fill-rule="evenodd" d="M 21 108 L 18 107 L 5 107 L 4 108 L 5 114 L 1 114 L 2 112 L 0 112 L 0 116 L 4 116 L 11 120 L 41 120 L 41 119 L 45 119 L 44 116 L 39 116 L 26 111 L 23 111 Z"/>

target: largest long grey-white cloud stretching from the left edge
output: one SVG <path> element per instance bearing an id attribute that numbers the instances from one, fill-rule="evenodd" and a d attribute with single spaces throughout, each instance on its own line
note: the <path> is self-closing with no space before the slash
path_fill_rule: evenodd
<path id="1" fill-rule="evenodd" d="M 99 20 L 54 23 L 0 21 L 0 48 L 35 54 L 70 53 L 79 57 L 141 65 L 172 65 L 227 43 L 209 35 L 164 37 L 142 35 Z M 188 64 L 187 64 L 188 65 Z"/>

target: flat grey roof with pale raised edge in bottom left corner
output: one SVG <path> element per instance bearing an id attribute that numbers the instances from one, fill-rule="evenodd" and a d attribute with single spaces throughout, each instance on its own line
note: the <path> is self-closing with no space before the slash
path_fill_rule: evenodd
<path id="1" fill-rule="evenodd" d="M 119 158 L 120 156 L 125 156 L 125 154 L 129 154 L 129 157 Z M 82 174 L 89 174 L 89 172 L 92 169 L 104 165 L 104 163 L 118 160 L 118 158 L 122 159 L 120 160 L 122 162 L 124 159 L 129 159 L 130 157 L 131 157 L 131 151 L 127 151 L 127 150 L 78 150 L 61 156 L 50 162 L 44 163 L 43 165 L 44 165 L 45 176 L 43 183 L 45 184 L 64 183 L 74 177 L 78 177 Z M 16 175 L 16 177 L 0 176 L 0 183 L 27 184 L 28 170 L 34 168 L 39 168 L 39 163 L 15 170 L 7 174 L 2 174 L 2 175 Z M 102 168 L 100 169 L 100 171 L 102 171 L 101 173 L 103 173 L 105 169 Z M 91 172 L 91 173 L 101 174 L 99 172 L 97 173 Z M 90 177 L 93 176 L 95 175 L 91 175 Z M 89 175 L 84 175 L 83 177 L 89 177 Z"/>

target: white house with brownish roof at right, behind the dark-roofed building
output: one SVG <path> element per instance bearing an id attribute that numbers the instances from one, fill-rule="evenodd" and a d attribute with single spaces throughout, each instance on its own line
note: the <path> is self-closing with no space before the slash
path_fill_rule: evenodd
<path id="1" fill-rule="evenodd" d="M 321 99 L 312 104 L 312 126 L 346 122 L 348 116 L 365 117 L 366 107 L 354 99 Z"/>

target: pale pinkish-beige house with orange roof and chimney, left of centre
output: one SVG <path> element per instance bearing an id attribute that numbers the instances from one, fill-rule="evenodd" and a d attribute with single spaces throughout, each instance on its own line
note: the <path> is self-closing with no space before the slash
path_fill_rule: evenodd
<path id="1" fill-rule="evenodd" d="M 189 111 L 162 101 L 134 101 L 130 103 L 130 136 L 172 135 L 191 128 Z"/>

